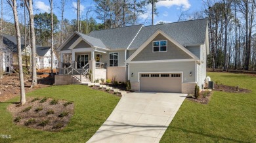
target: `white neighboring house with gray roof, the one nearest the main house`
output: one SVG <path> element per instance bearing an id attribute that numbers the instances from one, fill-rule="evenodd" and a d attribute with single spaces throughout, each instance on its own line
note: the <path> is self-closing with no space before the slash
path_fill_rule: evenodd
<path id="1" fill-rule="evenodd" d="M 37 69 L 51 69 L 51 46 L 36 46 Z M 58 67 L 58 57 L 53 52 L 53 68 Z"/>

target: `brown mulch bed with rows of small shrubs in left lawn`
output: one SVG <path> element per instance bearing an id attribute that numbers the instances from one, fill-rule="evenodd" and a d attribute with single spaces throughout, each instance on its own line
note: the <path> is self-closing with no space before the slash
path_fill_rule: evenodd
<path id="1" fill-rule="evenodd" d="M 74 103 L 72 102 L 64 106 L 64 103 L 68 103 L 68 101 L 56 99 L 58 103 L 50 104 L 53 101 L 51 98 L 48 98 L 44 103 L 40 103 L 43 97 L 37 101 L 32 101 L 33 99 L 35 98 L 28 98 L 23 106 L 14 103 L 7 107 L 12 113 L 16 125 L 43 131 L 60 131 L 68 124 L 74 114 Z M 50 110 L 52 110 L 51 114 L 49 114 Z"/>

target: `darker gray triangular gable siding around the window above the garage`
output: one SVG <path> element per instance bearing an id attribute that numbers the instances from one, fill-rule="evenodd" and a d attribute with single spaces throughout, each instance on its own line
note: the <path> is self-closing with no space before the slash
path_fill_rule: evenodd
<path id="1" fill-rule="evenodd" d="M 186 52 L 181 50 L 173 42 L 167 40 L 167 52 L 153 52 L 153 41 L 167 40 L 159 34 L 152 40 L 132 61 L 150 61 L 162 59 L 192 59 Z"/>

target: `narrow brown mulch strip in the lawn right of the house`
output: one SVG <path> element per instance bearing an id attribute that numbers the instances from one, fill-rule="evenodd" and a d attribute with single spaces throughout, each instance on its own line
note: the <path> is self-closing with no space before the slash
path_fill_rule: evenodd
<path id="1" fill-rule="evenodd" d="M 249 89 L 243 89 L 240 87 L 235 87 L 235 86 L 226 86 L 223 84 L 214 84 L 214 90 L 215 91 L 224 91 L 228 93 L 249 93 L 251 90 Z"/>

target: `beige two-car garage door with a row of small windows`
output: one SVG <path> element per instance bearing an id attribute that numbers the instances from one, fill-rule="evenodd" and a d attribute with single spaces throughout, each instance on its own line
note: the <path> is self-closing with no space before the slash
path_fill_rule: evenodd
<path id="1" fill-rule="evenodd" d="M 141 73 L 140 91 L 181 93 L 181 73 Z"/>

